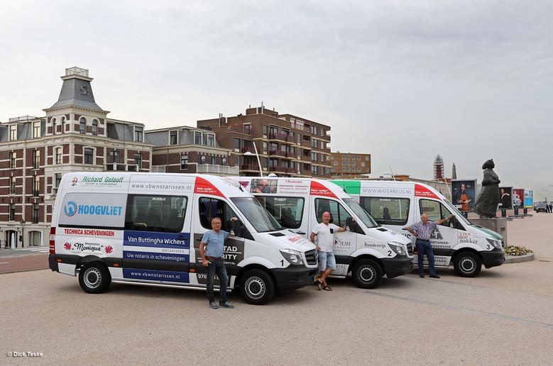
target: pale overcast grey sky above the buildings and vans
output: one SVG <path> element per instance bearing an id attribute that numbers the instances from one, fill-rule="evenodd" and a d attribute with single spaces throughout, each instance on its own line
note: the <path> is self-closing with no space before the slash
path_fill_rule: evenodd
<path id="1" fill-rule="evenodd" d="M 261 102 L 331 126 L 373 174 L 482 179 L 553 198 L 553 2 L 7 1 L 0 121 L 44 116 L 65 67 L 109 117 L 196 126 Z"/>

